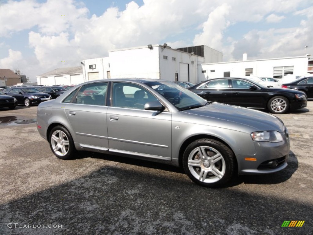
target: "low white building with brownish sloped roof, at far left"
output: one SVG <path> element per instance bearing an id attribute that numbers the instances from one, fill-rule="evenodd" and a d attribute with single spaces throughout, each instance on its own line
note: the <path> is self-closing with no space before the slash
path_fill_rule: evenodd
<path id="1" fill-rule="evenodd" d="M 77 85 L 84 82 L 82 66 L 58 68 L 37 76 L 38 85 Z"/>

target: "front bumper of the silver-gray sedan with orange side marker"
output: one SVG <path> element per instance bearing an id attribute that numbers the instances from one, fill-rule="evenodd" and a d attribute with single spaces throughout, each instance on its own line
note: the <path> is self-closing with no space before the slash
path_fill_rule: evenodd
<path id="1" fill-rule="evenodd" d="M 274 173 L 287 166 L 289 139 L 279 143 L 255 141 L 254 147 L 256 153 L 253 155 L 236 155 L 239 175 Z"/>

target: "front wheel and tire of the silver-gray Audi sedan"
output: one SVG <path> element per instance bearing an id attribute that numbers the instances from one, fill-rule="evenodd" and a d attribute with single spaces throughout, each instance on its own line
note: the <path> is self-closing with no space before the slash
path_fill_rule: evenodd
<path id="1" fill-rule="evenodd" d="M 198 139 L 189 144 L 182 161 L 189 178 L 206 187 L 226 184 L 235 171 L 233 151 L 214 139 Z"/>

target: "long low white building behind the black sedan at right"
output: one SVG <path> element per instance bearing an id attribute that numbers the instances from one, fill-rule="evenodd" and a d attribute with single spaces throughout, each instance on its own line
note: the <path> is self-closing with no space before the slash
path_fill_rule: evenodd
<path id="1" fill-rule="evenodd" d="M 242 61 L 205 63 L 201 65 L 201 72 L 205 79 L 219 77 L 258 77 L 281 78 L 287 74 L 304 75 L 311 70 L 308 56 L 247 60 L 244 53 Z"/>

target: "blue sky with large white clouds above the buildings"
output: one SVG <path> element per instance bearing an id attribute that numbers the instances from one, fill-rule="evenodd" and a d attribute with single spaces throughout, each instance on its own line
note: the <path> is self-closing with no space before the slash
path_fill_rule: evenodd
<path id="1" fill-rule="evenodd" d="M 0 0 L 0 68 L 36 76 L 114 49 L 207 45 L 223 61 L 313 55 L 313 0 Z"/>

